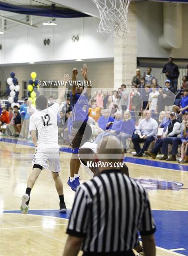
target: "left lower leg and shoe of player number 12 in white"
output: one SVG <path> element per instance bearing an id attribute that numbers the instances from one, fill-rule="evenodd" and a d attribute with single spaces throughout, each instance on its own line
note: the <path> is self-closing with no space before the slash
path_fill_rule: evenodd
<path id="1" fill-rule="evenodd" d="M 28 213 L 31 189 L 33 188 L 36 180 L 38 179 L 38 176 L 40 175 L 42 169 L 43 166 L 34 164 L 33 171 L 27 180 L 26 193 L 22 196 L 22 202 L 20 207 L 21 212 L 24 214 Z"/>

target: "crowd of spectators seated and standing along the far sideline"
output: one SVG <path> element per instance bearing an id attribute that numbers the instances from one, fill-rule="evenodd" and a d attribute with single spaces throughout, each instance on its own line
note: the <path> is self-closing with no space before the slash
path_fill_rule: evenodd
<path id="1" fill-rule="evenodd" d="M 179 162 L 188 162 L 188 77 L 183 77 L 182 86 L 177 90 L 179 71 L 172 58 L 162 72 L 167 76 L 164 85 L 158 84 L 149 67 L 143 75 L 140 69 L 136 70 L 131 86 L 122 84 L 117 90 L 94 91 L 88 113 L 91 141 L 97 143 L 103 136 L 113 135 L 122 141 L 125 152 L 132 141 L 136 157 L 146 154 L 156 158 L 161 153 L 159 159 L 171 161 L 176 160 L 180 148 Z M 53 96 L 48 101 L 51 106 Z M 2 135 L 30 138 L 29 119 L 35 111 L 28 99 L 20 110 L 17 106 L 14 109 L 4 107 L 0 116 Z M 57 120 L 59 142 L 69 144 L 72 126 L 69 95 Z M 170 152 L 171 157 L 168 157 Z"/>

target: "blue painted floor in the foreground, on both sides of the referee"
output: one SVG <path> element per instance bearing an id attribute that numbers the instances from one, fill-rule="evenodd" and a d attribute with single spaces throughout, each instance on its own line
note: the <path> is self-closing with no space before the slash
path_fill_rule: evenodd
<path id="1" fill-rule="evenodd" d="M 41 215 L 69 219 L 71 210 L 66 214 L 58 210 L 30 210 L 30 215 Z M 188 211 L 152 211 L 156 222 L 156 244 L 165 249 L 184 248 L 176 251 L 188 256 Z M 18 213 L 21 211 L 4 211 L 4 213 Z"/>

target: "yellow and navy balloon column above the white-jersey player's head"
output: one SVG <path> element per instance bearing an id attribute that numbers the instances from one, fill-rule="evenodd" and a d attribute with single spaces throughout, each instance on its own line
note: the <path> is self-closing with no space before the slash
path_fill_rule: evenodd
<path id="1" fill-rule="evenodd" d="M 35 106 L 35 101 L 36 98 L 38 97 L 39 93 L 39 86 L 38 86 L 38 80 L 36 80 L 35 78 L 37 77 L 37 73 L 36 72 L 31 72 L 30 74 L 31 78 L 29 81 L 29 85 L 27 86 L 27 90 L 28 90 L 28 99 L 32 102 L 32 104 Z"/>

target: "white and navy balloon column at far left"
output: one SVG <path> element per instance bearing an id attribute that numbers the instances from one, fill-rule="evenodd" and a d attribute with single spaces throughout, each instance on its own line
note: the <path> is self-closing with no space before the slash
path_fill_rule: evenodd
<path id="1" fill-rule="evenodd" d="M 7 79 L 7 95 L 8 95 L 8 101 L 9 103 L 7 104 L 7 108 L 9 108 L 10 106 L 13 108 L 15 105 L 18 106 L 19 108 L 19 103 L 18 101 L 18 94 L 19 94 L 19 90 L 20 90 L 20 85 L 17 85 L 17 78 L 15 77 L 15 73 L 11 72 L 10 76 Z"/>

